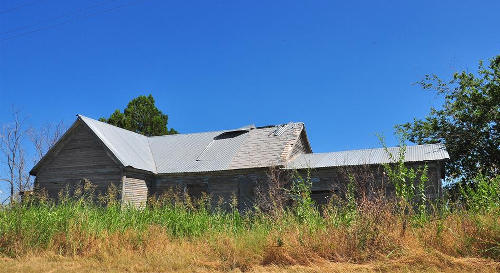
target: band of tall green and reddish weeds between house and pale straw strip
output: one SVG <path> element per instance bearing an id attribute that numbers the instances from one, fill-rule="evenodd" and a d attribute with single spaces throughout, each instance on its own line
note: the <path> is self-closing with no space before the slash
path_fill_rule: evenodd
<path id="1" fill-rule="evenodd" d="M 500 260 L 499 178 L 480 179 L 463 190 L 459 204 L 444 201 L 434 209 L 421 209 L 418 198 L 404 199 L 408 206 L 391 198 L 359 200 L 352 181 L 342 198 L 317 207 L 308 177 L 294 180 L 291 206 L 277 213 L 258 207 L 242 213 L 235 199 L 228 200 L 229 209 L 213 207 L 206 196 L 167 194 L 140 209 L 121 204 L 116 194 L 95 198 L 85 189 L 61 194 L 57 202 L 38 196 L 0 208 L 0 255 L 86 255 L 125 246 L 141 252 L 164 240 L 202 244 L 217 257 L 253 257 L 246 263 L 293 264 L 307 261 L 304 256 L 366 261 L 404 255 L 415 246 Z"/>

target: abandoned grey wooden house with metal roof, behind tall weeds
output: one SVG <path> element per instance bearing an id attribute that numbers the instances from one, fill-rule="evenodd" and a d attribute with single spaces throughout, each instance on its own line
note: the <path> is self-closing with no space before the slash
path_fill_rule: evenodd
<path id="1" fill-rule="evenodd" d="M 388 151 L 397 154 L 398 148 Z M 427 165 L 426 193 L 431 198 L 441 194 L 447 158 L 439 144 L 406 149 L 408 164 Z M 44 189 L 51 198 L 87 179 L 98 192 L 114 184 L 121 189 L 121 200 L 136 206 L 144 205 L 149 196 L 182 189 L 195 197 L 236 196 L 239 208 L 246 209 L 255 201 L 256 187 L 269 180 L 270 167 L 309 170 L 312 197 L 323 203 L 346 184 L 344 170 L 359 176 L 369 173 L 365 180 L 383 185 L 381 164 L 390 162 L 382 148 L 312 153 L 300 122 L 146 137 L 78 115 L 30 174 L 36 176 L 35 189 Z M 383 187 L 391 191 L 389 184 Z M 371 189 L 366 189 L 369 194 Z"/>

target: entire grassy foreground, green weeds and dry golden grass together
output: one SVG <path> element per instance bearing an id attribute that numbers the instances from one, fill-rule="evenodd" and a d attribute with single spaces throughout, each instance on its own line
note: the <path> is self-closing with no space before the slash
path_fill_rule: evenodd
<path id="1" fill-rule="evenodd" d="M 39 218 L 5 229 L 0 236 L 0 255 L 5 255 L 0 258 L 0 272 L 500 272 L 497 211 L 457 211 L 419 222 L 395 212 L 390 203 L 365 201 L 358 204 L 355 218 L 344 222 L 337 221 L 344 218 L 331 210 L 306 218 L 294 213 L 263 216 L 252 218 L 253 224 L 233 222 L 221 224 L 224 230 L 210 229 L 233 219 L 224 214 L 226 218 L 209 222 L 197 235 L 176 235 L 152 222 L 126 222 L 136 224 L 96 232 L 83 228 L 82 215 L 88 209 L 75 211 L 61 213 L 68 228 L 50 234 L 47 245 L 30 245 L 28 239 L 38 237 L 30 237 L 32 229 L 19 228 L 37 225 Z M 0 220 L 7 223 L 34 215 L 30 208 L 21 212 L 17 218 L 5 214 L 11 218 Z M 127 212 L 116 213 L 130 217 Z M 151 211 L 135 213 L 143 216 Z M 191 216 L 196 213 L 201 212 Z M 96 223 L 109 220 L 106 216 L 95 218 Z M 200 218 L 184 221 L 193 219 Z M 270 222 L 258 224 L 266 219 Z M 35 231 L 45 235 L 40 227 L 52 226 L 36 226 Z"/>

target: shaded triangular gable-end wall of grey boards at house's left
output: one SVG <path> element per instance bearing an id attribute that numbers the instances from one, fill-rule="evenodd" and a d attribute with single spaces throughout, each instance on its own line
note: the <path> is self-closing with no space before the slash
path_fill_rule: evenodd
<path id="1" fill-rule="evenodd" d="M 121 187 L 120 167 L 85 125 L 78 124 L 55 149 L 38 171 L 35 183 L 49 197 L 74 189 L 82 179 L 90 180 L 96 193 L 105 193 L 112 183 Z"/>

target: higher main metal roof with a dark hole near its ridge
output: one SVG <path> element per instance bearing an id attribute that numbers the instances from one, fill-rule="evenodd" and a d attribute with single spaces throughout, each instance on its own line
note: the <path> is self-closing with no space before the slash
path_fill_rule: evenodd
<path id="1" fill-rule="evenodd" d="M 275 128 L 245 126 L 235 130 L 146 137 L 79 115 L 124 166 L 153 173 L 209 172 L 283 164 L 279 156 L 297 138 L 289 123 Z M 302 128 L 302 127 L 301 127 Z"/>

